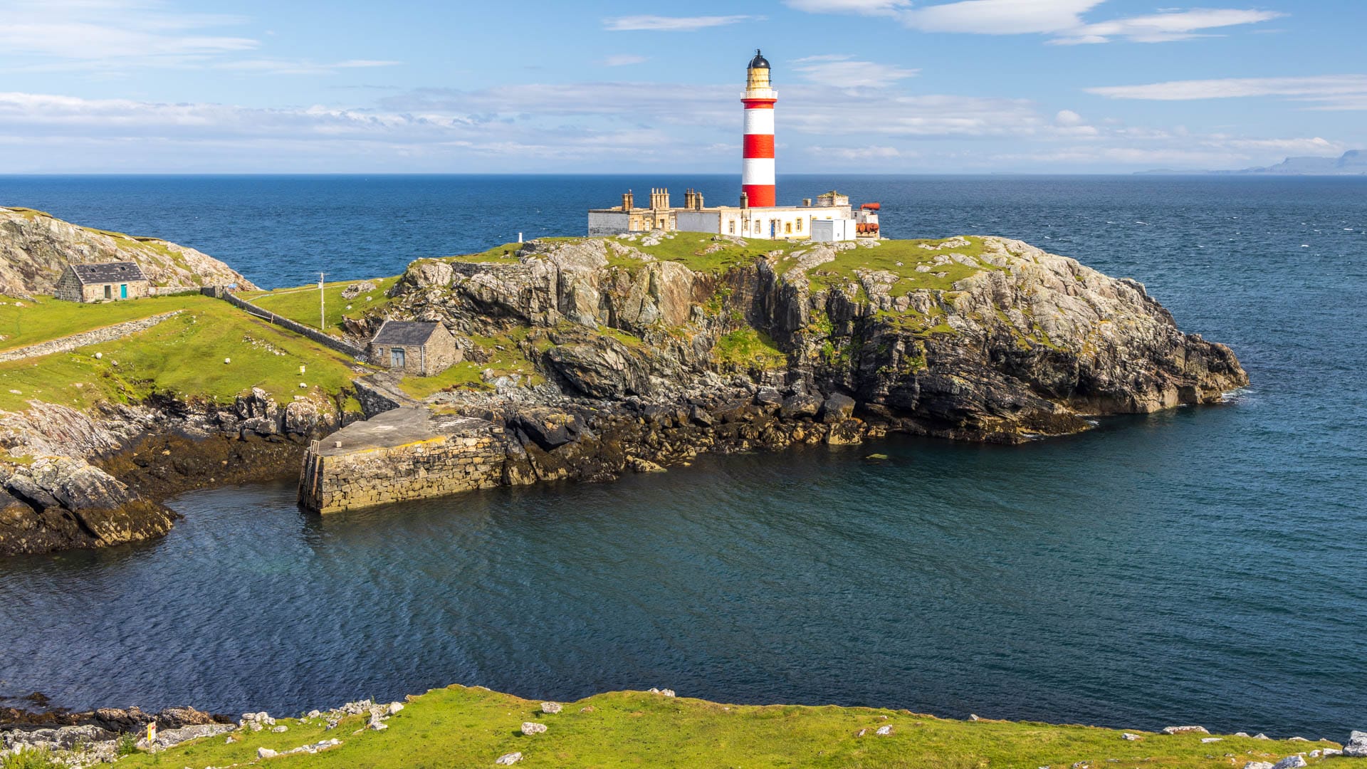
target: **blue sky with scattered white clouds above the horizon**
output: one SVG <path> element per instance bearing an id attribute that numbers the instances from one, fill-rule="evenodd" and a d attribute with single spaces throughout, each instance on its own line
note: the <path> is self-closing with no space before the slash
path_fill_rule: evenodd
<path id="1" fill-rule="evenodd" d="M 757 47 L 781 174 L 1367 148 L 1367 3 L 1172 1 L 0 0 L 0 174 L 738 172 Z"/>

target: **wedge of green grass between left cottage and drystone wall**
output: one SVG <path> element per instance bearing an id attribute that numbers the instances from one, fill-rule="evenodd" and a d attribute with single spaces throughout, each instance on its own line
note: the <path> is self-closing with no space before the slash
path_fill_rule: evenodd
<path id="1" fill-rule="evenodd" d="M 145 300 L 82 304 L 41 297 L 37 301 L 0 297 L 0 352 L 48 339 L 93 331 L 126 320 L 137 320 L 176 309 L 204 307 L 219 300 L 200 294 L 149 297 Z"/>

